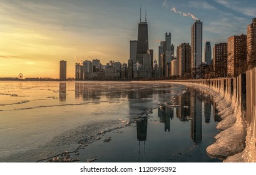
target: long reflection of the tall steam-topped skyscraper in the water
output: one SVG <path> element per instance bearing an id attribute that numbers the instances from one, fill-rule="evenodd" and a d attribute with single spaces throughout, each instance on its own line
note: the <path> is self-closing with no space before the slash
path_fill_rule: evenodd
<path id="1" fill-rule="evenodd" d="M 202 96 L 190 90 L 191 138 L 195 143 L 202 141 Z"/>

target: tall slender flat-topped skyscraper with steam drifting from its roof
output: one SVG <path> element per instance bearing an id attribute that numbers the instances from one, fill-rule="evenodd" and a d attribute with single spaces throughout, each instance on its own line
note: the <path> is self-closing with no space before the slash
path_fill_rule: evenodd
<path id="1" fill-rule="evenodd" d="M 196 20 L 191 27 L 191 73 L 202 64 L 203 22 Z M 197 75 L 198 77 L 198 75 Z"/>

